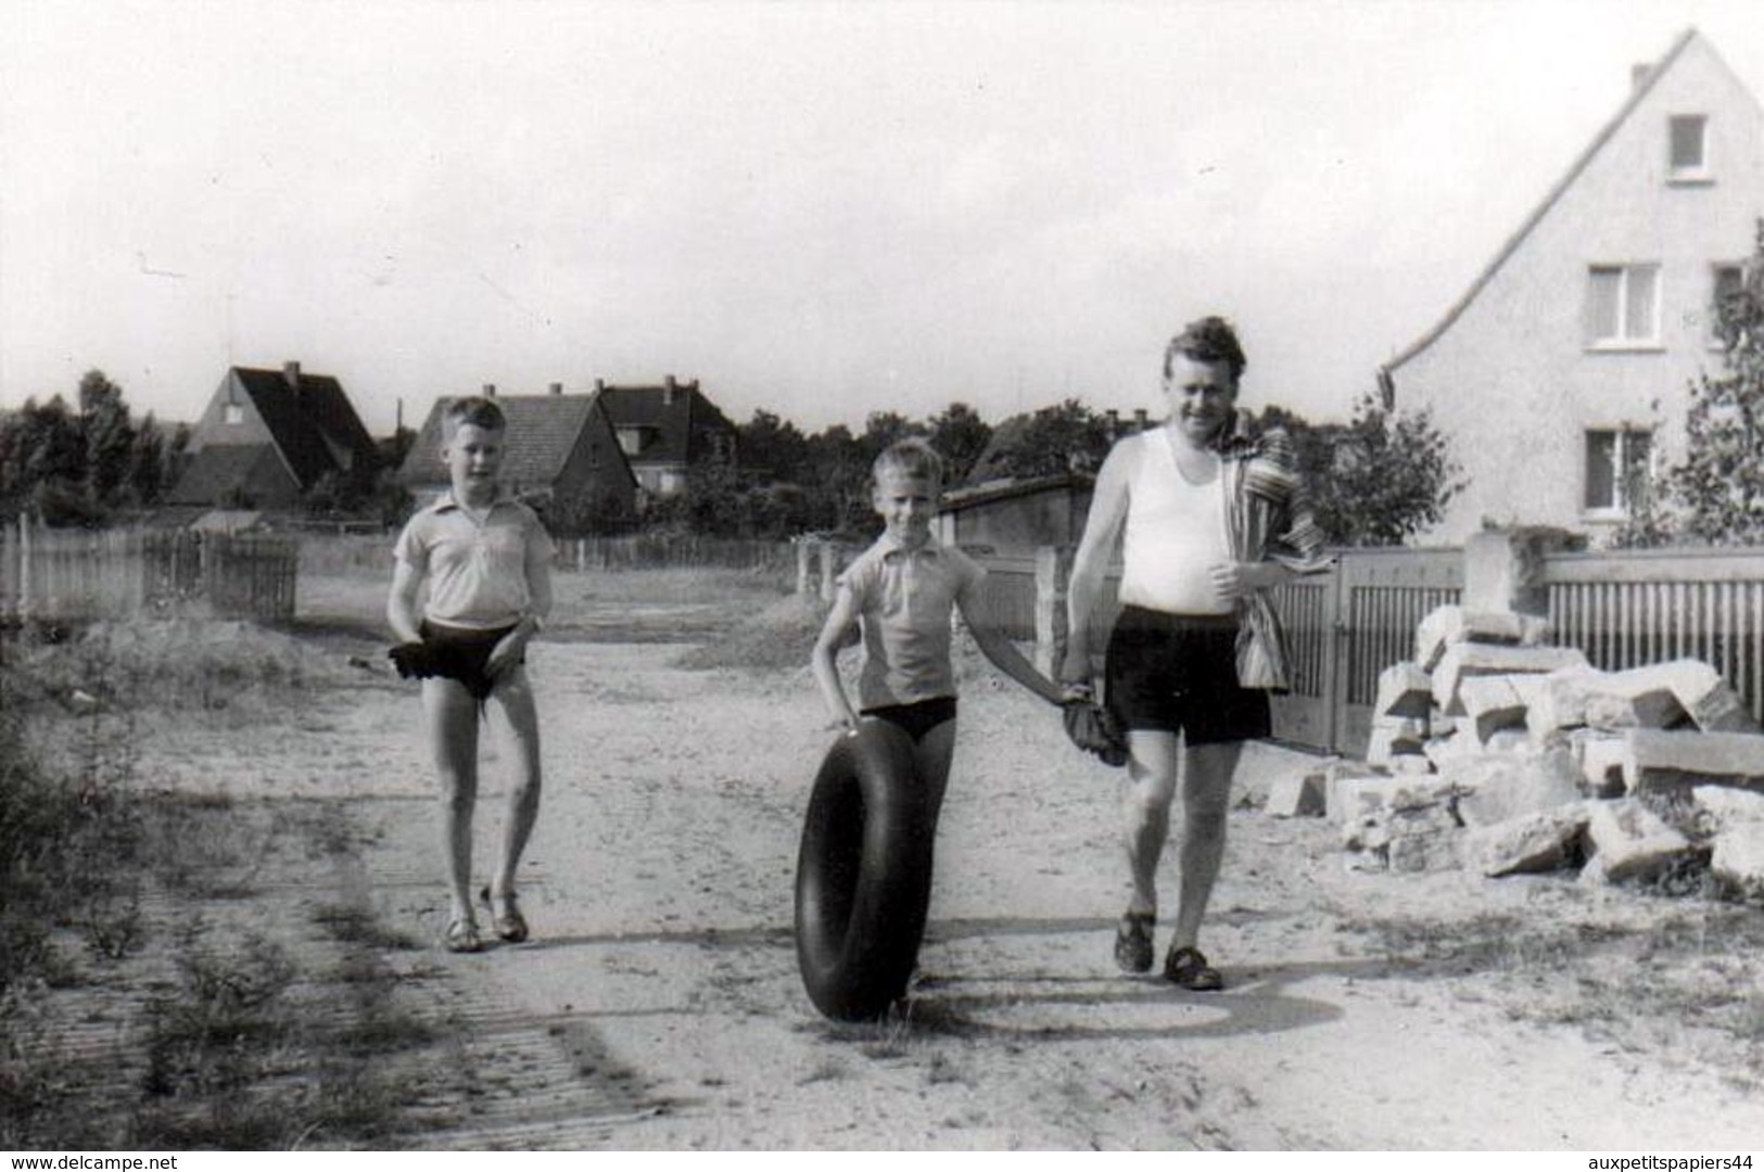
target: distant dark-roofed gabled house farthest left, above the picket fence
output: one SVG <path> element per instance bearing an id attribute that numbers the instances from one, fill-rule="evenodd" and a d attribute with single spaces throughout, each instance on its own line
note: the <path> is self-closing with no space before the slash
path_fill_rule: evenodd
<path id="1" fill-rule="evenodd" d="M 328 374 L 233 367 L 191 432 L 171 506 L 282 509 L 326 474 L 370 478 L 374 439 Z"/>

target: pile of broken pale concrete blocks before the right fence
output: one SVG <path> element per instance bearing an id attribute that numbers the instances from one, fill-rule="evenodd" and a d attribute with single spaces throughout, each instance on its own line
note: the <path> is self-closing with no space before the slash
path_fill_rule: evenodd
<path id="1" fill-rule="evenodd" d="M 1625 883 L 1706 864 L 1764 895 L 1764 730 L 1745 701 L 1706 663 L 1602 671 L 1549 634 L 1436 608 L 1379 675 L 1365 763 L 1282 777 L 1267 811 L 1330 818 L 1362 869 Z"/>

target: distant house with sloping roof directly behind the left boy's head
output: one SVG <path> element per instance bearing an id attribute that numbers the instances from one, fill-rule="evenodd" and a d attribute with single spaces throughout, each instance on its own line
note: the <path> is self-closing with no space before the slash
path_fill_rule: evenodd
<path id="1" fill-rule="evenodd" d="M 503 485 L 538 508 L 554 536 L 623 529 L 637 513 L 637 479 L 619 449 L 602 391 L 566 395 L 552 382 L 547 395 L 496 395 L 508 419 Z M 448 490 L 441 462 L 441 412 L 436 400 L 411 444 L 399 483 L 420 504 Z"/>

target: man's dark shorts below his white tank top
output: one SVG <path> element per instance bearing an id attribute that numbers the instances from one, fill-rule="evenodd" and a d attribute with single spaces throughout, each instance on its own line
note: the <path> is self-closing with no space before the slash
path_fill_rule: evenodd
<path id="1" fill-rule="evenodd" d="M 1237 617 L 1124 606 L 1108 640 L 1102 696 L 1125 730 L 1185 733 L 1189 747 L 1258 740 L 1268 693 L 1237 684 Z"/>

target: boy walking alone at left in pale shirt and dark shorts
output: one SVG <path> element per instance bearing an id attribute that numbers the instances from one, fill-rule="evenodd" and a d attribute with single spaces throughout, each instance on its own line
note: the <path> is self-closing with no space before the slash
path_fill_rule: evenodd
<path id="1" fill-rule="evenodd" d="M 508 425 L 490 398 L 459 398 L 441 414 L 452 488 L 399 534 L 386 620 L 399 675 L 422 679 L 423 728 L 441 777 L 441 849 L 452 913 L 448 952 L 482 952 L 471 901 L 471 818 L 478 802 L 478 721 L 499 726 L 512 763 L 501 858 L 483 888 L 490 927 L 527 938 L 515 867 L 540 809 L 540 726 L 527 684 L 527 640 L 550 613 L 552 543 L 538 515 L 508 497 L 497 472 Z M 418 596 L 429 597 L 418 615 Z"/>

